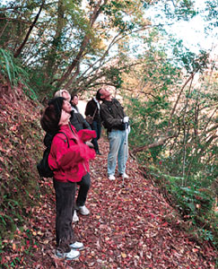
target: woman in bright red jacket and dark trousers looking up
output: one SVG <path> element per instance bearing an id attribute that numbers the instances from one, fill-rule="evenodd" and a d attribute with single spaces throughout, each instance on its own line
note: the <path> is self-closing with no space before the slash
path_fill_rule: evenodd
<path id="1" fill-rule="evenodd" d="M 46 132 L 55 134 L 48 155 L 48 165 L 54 172 L 56 191 L 56 255 L 71 260 L 80 256 L 79 250 L 83 249 L 83 243 L 75 241 L 72 228 L 75 183 L 90 170 L 89 160 L 95 157 L 95 152 L 84 142 L 96 134 L 88 129 L 77 133 L 69 123 L 70 114 L 62 109 L 64 102 L 67 101 L 62 97 L 51 100 L 40 123 Z"/>

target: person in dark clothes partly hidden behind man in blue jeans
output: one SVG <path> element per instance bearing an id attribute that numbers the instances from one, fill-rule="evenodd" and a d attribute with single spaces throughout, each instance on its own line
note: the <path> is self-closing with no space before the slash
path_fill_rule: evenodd
<path id="1" fill-rule="evenodd" d="M 100 102 L 93 97 L 89 100 L 85 108 L 85 116 L 93 117 L 92 130 L 96 132 L 96 138 L 92 139 L 92 144 L 94 145 L 94 150 L 97 154 L 101 155 L 98 140 L 100 139 L 101 123 L 100 123 Z"/>

